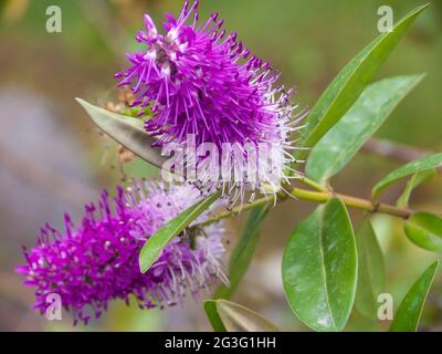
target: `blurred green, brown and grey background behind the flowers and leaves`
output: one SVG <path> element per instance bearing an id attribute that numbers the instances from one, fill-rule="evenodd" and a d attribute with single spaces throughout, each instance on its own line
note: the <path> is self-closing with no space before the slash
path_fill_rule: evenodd
<path id="1" fill-rule="evenodd" d="M 390 4 L 398 20 L 423 1 L 202 0 L 202 18 L 219 11 L 252 51 L 274 63 L 299 101 L 313 106 L 341 66 L 377 37 L 377 9 Z M 48 33 L 45 11 L 62 9 L 62 33 Z M 134 51 L 143 13 L 157 21 L 178 13 L 181 0 L 0 0 L 0 330 L 3 331 L 201 331 L 209 330 L 200 303 L 164 311 L 140 311 L 114 302 L 87 327 L 49 322 L 30 310 L 33 292 L 13 268 L 23 262 L 21 244 L 33 246 L 40 226 L 62 226 L 64 211 L 78 220 L 84 202 L 110 189 L 124 174 L 157 171 L 136 160 L 120 166 L 116 145 L 93 126 L 75 103 L 81 96 L 104 105 L 115 94 L 113 74 Z M 400 104 L 377 138 L 420 150 L 442 149 L 442 1 L 433 0 L 412 25 L 376 79 L 427 72 L 425 80 Z M 413 153 L 413 152 L 411 152 Z M 399 158 L 400 159 L 400 158 Z M 366 148 L 334 179 L 336 189 L 369 197 L 370 187 L 401 163 Z M 393 202 L 402 185 L 389 189 Z M 441 178 L 420 187 L 412 204 L 442 211 Z M 291 230 L 313 205 L 286 202 L 271 211 L 262 239 L 234 301 L 262 313 L 284 330 L 305 331 L 286 304 L 281 257 Z M 352 212 L 352 211 L 351 211 Z M 361 218 L 352 212 L 355 227 Z M 229 220 L 230 248 L 246 215 Z M 412 246 L 397 220 L 376 216 L 387 258 L 388 290 L 399 303 L 434 256 Z M 442 329 L 441 271 L 432 288 L 423 330 Z M 356 314 L 348 330 L 375 330 Z"/>

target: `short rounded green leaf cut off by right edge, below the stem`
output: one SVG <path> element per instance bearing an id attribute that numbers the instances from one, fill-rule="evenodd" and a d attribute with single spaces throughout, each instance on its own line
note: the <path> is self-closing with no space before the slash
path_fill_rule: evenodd
<path id="1" fill-rule="evenodd" d="M 417 212 L 403 227 L 414 244 L 429 251 L 442 252 L 442 218 L 430 212 Z"/>

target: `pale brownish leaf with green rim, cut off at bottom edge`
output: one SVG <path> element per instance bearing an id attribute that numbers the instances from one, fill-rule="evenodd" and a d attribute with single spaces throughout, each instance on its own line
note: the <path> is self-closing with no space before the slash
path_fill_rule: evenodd
<path id="1" fill-rule="evenodd" d="M 280 332 L 256 312 L 227 300 L 215 300 L 217 313 L 228 332 Z"/>

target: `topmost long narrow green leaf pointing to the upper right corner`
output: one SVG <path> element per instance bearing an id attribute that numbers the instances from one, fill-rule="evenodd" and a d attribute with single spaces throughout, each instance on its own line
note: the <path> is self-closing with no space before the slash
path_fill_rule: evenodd
<path id="1" fill-rule="evenodd" d="M 414 19 L 428 7 L 419 7 L 398 21 L 391 32 L 368 44 L 339 72 L 326 88 L 307 118 L 303 146 L 313 147 L 352 106 L 380 64 L 388 58 Z M 307 152 L 301 152 L 304 158 Z"/>

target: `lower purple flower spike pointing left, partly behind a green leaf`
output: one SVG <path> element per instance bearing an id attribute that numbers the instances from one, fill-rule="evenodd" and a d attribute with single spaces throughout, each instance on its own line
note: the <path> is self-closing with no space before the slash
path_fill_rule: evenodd
<path id="1" fill-rule="evenodd" d="M 106 191 L 98 205 L 85 206 L 85 217 L 74 228 L 65 217 L 65 232 L 46 225 L 31 250 L 28 264 L 17 268 L 25 284 L 36 288 L 34 309 L 44 314 L 48 295 L 60 295 L 74 323 L 98 317 L 110 300 L 133 295 L 141 309 L 173 305 L 186 293 L 198 296 L 217 278 L 228 282 L 220 258 L 224 248 L 220 223 L 194 227 L 176 237 L 147 273 L 138 266 L 140 248 L 165 222 L 190 207 L 199 192 L 189 186 L 134 183 L 117 189 L 110 201 Z M 201 216 L 201 221 L 208 212 Z M 191 233 L 191 235 L 190 235 Z"/>

